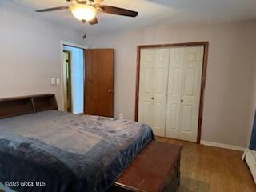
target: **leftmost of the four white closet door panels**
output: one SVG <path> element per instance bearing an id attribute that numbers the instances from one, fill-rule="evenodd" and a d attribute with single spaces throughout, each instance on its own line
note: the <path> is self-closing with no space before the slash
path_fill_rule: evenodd
<path id="1" fill-rule="evenodd" d="M 138 122 L 154 126 L 154 68 L 156 50 L 141 50 Z"/>

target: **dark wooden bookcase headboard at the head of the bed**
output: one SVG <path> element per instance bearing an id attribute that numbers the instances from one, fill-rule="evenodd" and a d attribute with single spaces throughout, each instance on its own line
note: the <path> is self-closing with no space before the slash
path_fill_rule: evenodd
<path id="1" fill-rule="evenodd" d="M 16 98 L 0 98 L 0 118 L 32 114 L 43 110 L 58 110 L 54 94 L 37 94 Z"/>

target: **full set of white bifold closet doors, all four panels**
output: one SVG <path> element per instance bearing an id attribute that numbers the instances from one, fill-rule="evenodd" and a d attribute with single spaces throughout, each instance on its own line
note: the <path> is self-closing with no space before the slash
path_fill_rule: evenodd
<path id="1" fill-rule="evenodd" d="M 142 49 L 138 121 L 154 134 L 196 142 L 203 46 Z"/>

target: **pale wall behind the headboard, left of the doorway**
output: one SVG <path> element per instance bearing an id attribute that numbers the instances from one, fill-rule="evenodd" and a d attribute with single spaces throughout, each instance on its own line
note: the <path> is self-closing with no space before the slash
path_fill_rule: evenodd
<path id="1" fill-rule="evenodd" d="M 0 98 L 54 93 L 63 108 L 61 40 L 79 43 L 82 34 L 0 2 Z"/>

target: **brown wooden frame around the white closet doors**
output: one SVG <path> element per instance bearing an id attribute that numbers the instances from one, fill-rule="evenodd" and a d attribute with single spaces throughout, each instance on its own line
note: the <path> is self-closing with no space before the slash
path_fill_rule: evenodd
<path id="1" fill-rule="evenodd" d="M 135 121 L 138 122 L 138 101 L 139 101 L 139 75 L 140 75 L 140 60 L 141 50 L 148 48 L 172 48 L 172 47 L 186 47 L 186 46 L 203 46 L 203 62 L 202 62 L 202 79 L 201 79 L 201 90 L 200 90 L 200 103 L 199 103 L 199 116 L 198 116 L 198 137 L 197 143 L 200 143 L 202 133 L 202 110 L 204 100 L 204 90 L 206 86 L 206 69 L 208 62 L 208 50 L 209 42 L 185 42 L 185 43 L 174 43 L 174 44 L 160 44 L 160 45 L 145 45 L 137 46 L 137 73 L 136 73 L 136 95 L 135 95 Z"/>

